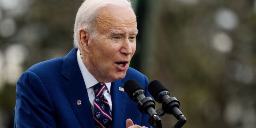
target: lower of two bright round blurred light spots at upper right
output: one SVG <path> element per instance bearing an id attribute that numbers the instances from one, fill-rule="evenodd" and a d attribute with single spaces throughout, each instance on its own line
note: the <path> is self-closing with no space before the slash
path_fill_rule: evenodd
<path id="1" fill-rule="evenodd" d="M 212 39 L 212 46 L 221 53 L 230 52 L 233 47 L 231 38 L 224 32 L 219 32 Z"/>

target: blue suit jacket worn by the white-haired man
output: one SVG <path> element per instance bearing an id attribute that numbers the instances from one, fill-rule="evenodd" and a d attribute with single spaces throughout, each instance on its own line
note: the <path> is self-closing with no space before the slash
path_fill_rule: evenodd
<path id="1" fill-rule="evenodd" d="M 14 128 L 95 128 L 84 80 L 77 63 L 76 48 L 64 58 L 38 63 L 24 72 L 16 86 Z M 148 115 L 119 90 L 129 79 L 137 80 L 146 96 L 148 78 L 129 68 L 126 77 L 111 84 L 112 128 L 126 128 L 126 119 L 148 126 Z M 82 101 L 77 105 L 78 100 Z"/>

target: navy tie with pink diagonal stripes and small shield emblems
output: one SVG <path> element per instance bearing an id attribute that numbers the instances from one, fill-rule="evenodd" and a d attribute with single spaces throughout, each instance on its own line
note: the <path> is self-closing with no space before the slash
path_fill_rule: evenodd
<path id="1" fill-rule="evenodd" d="M 105 88 L 104 83 L 94 85 L 94 122 L 96 128 L 111 128 L 112 117 L 108 100 L 103 94 Z"/>

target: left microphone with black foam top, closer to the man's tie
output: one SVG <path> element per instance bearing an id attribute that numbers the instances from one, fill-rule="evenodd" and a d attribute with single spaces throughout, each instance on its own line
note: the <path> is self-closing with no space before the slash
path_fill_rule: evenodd
<path id="1" fill-rule="evenodd" d="M 152 100 L 151 97 L 145 97 L 144 89 L 136 80 L 127 80 L 124 83 L 124 90 L 131 100 L 138 102 L 138 109 L 141 113 L 148 114 L 150 117 L 157 116 L 157 113 L 154 110 L 154 100 Z"/>

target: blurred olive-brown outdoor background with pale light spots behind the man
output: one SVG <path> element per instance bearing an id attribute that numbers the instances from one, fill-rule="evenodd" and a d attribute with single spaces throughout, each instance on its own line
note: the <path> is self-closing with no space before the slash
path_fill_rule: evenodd
<path id="1" fill-rule="evenodd" d="M 0 128 L 13 128 L 22 72 L 73 48 L 82 2 L 0 0 Z M 256 128 L 256 0 L 132 2 L 139 34 L 131 67 L 180 101 L 182 128 Z M 177 122 L 160 118 L 164 128 Z"/>

